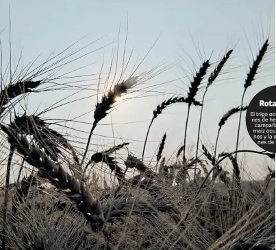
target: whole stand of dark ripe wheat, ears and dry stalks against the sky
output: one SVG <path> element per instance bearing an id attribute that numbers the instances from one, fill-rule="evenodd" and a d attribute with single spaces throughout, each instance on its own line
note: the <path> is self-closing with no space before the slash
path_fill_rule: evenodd
<path id="1" fill-rule="evenodd" d="M 125 78 L 128 62 L 125 65 L 123 62 L 120 77 L 97 100 L 83 149 L 66 134 L 53 129 L 53 123 L 42 118 L 43 112 L 15 112 L 16 105 L 29 94 L 46 91 L 42 86 L 47 83 L 55 86 L 62 79 L 55 76 L 57 69 L 66 65 L 68 62 L 64 60 L 76 52 L 62 59 L 53 56 L 32 70 L 27 65 L 18 74 L 12 73 L 11 66 L 10 72 L 4 71 L 1 62 L 1 166 L 5 166 L 2 171 L 5 185 L 1 187 L 1 249 L 273 249 L 275 188 L 270 188 L 270 184 L 275 179 L 275 170 L 268 167 L 264 181 L 247 183 L 242 181 L 238 161 L 238 155 L 244 153 L 266 155 L 275 161 L 275 154 L 270 152 L 238 148 L 242 112 L 247 110 L 244 95 L 272 49 L 267 39 L 255 55 L 244 81 L 240 106 L 229 109 L 218 121 L 214 151 L 200 144 L 205 95 L 234 49 L 229 49 L 218 62 L 203 60 L 190 80 L 187 93 L 168 97 L 156 106 L 140 157 L 134 156 L 128 148 L 131 143 L 124 141 L 88 158 L 90 141 L 118 98 L 130 90 L 135 93 L 134 87 L 165 68 L 158 65 L 136 74 L 138 64 Z M 16 70 L 17 67 L 13 71 Z M 201 100 L 197 95 L 199 89 L 204 90 Z M 162 156 L 165 133 L 152 166 L 144 160 L 151 125 L 165 109 L 177 103 L 188 106 L 184 144 L 177 151 L 175 162 L 168 163 Z M 201 115 L 195 156 L 189 157 L 186 137 L 192 106 L 197 106 Z M 236 148 L 218 153 L 220 132 L 235 115 L 239 115 Z M 120 163 L 114 153 L 124 149 L 128 155 Z M 231 163 L 231 177 L 224 169 L 225 162 Z M 20 168 L 12 183 L 10 177 L 17 165 Z M 97 165 L 110 168 L 116 180 L 114 185 L 105 181 L 104 188 L 100 188 L 96 176 L 92 180 L 88 177 L 88 172 Z M 127 172 L 134 170 L 137 174 L 127 177 Z"/>

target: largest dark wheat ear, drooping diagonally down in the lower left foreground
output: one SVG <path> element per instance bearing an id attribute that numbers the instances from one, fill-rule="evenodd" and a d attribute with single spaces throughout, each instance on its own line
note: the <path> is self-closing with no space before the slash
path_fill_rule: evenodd
<path id="1" fill-rule="evenodd" d="M 91 223 L 92 228 L 99 228 L 103 225 L 104 218 L 101 218 L 99 202 L 92 198 L 89 190 L 79 180 L 69 175 L 60 163 L 51 161 L 38 146 L 30 145 L 23 135 L 3 125 L 1 125 L 1 129 L 8 135 L 10 144 L 16 148 L 27 163 L 40 170 L 45 179 L 59 190 L 70 190 L 70 192 L 63 192 L 77 205 L 79 211 Z"/>

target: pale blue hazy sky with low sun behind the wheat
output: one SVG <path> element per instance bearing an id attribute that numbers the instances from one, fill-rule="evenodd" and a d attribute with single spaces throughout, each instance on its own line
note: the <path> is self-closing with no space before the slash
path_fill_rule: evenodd
<path id="1" fill-rule="evenodd" d="M 11 18 L 9 18 L 9 8 Z M 10 21 L 11 26 L 9 26 Z M 245 95 L 244 104 L 249 104 L 253 96 L 262 89 L 275 84 L 275 55 L 273 52 L 275 1 L 273 0 L 1 0 L 0 32 L 2 32 L 0 38 L 5 67 L 10 60 L 10 27 L 13 71 L 16 71 L 19 58 L 21 58 L 19 67 L 24 67 L 40 56 L 36 60 L 36 65 L 39 65 L 50 54 L 58 55 L 58 52 L 81 37 L 87 35 L 74 47 L 68 49 L 65 54 L 95 41 L 74 55 L 73 58 L 83 54 L 86 56 L 65 65 L 58 72 L 61 75 L 61 72 L 73 71 L 66 76 L 86 75 L 86 77 L 78 78 L 81 79 L 79 82 L 75 82 L 76 78 L 55 81 L 67 84 L 71 82 L 74 89 L 68 87 L 67 90 L 34 93 L 28 97 L 30 113 L 43 111 L 51 104 L 68 98 L 68 95 L 72 95 L 71 98 L 62 102 L 78 100 L 43 114 L 45 119 L 51 117 L 55 120 L 70 120 L 78 117 L 74 123 L 68 123 L 66 125 L 68 127 L 63 130 L 64 133 L 77 136 L 78 141 L 84 142 L 84 139 L 88 137 L 87 132 L 90 131 L 88 123 L 93 122 L 92 112 L 97 101 L 99 73 L 103 67 L 101 78 L 107 76 L 106 73 L 110 69 L 112 60 L 112 49 L 116 48 L 118 37 L 120 45 L 118 68 L 115 69 L 116 64 L 114 63 L 112 77 L 115 75 L 114 72 L 117 72 L 115 76 L 121 72 L 126 37 L 125 62 L 132 48 L 134 48 L 134 52 L 125 72 L 125 78 L 129 76 L 136 59 L 142 60 L 149 50 L 149 55 L 142 61 L 137 73 L 149 71 L 160 62 L 168 65 L 166 71 L 135 87 L 133 93 L 127 94 L 125 99 L 123 97 L 118 100 L 118 109 L 112 111 L 97 126 L 95 134 L 100 136 L 92 136 L 90 150 L 103 150 L 114 146 L 114 144 L 121 144 L 122 141 L 129 141 L 129 150 L 137 157 L 141 157 L 143 141 L 156 106 L 171 96 L 186 95 L 188 84 L 202 61 L 210 58 L 211 62 L 217 62 L 227 49 L 234 48 L 234 53 L 223 74 L 210 87 L 205 98 L 201 142 L 208 146 L 210 151 L 214 147 L 218 121 L 229 109 L 240 105 L 244 78 L 253 56 L 267 37 L 270 38 L 271 49 L 260 69 L 260 74 Z M 120 35 L 118 36 L 118 34 Z M 157 42 L 155 43 L 155 41 Z M 212 65 L 213 68 L 214 65 Z M 75 71 L 76 69 L 78 70 Z M 79 91 L 81 88 L 79 87 L 78 90 L 78 86 L 83 86 L 83 90 Z M 101 84 L 101 90 L 103 90 L 103 84 Z M 202 98 L 202 90 L 197 95 L 198 100 Z M 80 100 L 81 98 L 82 100 Z M 191 148 L 190 156 L 195 152 L 192 147 L 195 147 L 197 141 L 199 113 L 200 109 L 192 106 L 187 135 L 188 148 Z M 165 132 L 167 139 L 164 155 L 167 159 L 170 159 L 171 155 L 175 157 L 175 150 L 183 144 L 186 115 L 187 106 L 175 104 L 166 109 L 153 122 L 145 153 L 147 163 L 150 163 L 151 159 L 153 162 L 155 161 L 159 141 Z M 232 117 L 221 130 L 218 152 L 234 150 L 237 126 L 238 115 Z M 81 130 L 85 130 L 86 133 L 79 132 Z M 245 113 L 242 115 L 240 131 L 240 149 L 262 150 L 254 144 L 247 132 Z M 85 144 L 81 147 L 85 148 Z M 92 155 L 92 152 L 88 155 Z M 266 157 L 259 155 L 241 155 L 239 160 L 244 169 L 251 172 L 255 178 L 262 178 L 267 173 L 266 166 L 273 164 Z"/>

